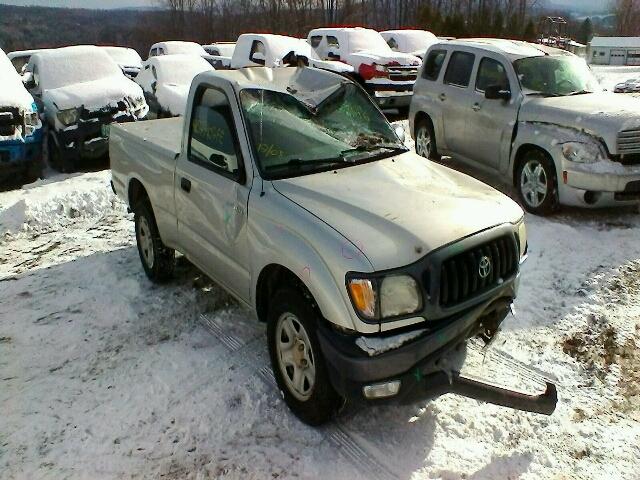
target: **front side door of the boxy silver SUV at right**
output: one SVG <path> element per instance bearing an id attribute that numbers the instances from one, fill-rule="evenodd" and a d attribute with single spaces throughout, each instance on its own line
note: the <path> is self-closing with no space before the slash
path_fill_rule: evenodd
<path id="1" fill-rule="evenodd" d="M 490 57 L 480 60 L 473 94 L 465 112 L 465 151 L 463 154 L 479 166 L 501 170 L 508 160 L 513 128 L 518 117 L 514 91 L 515 78 L 510 79 L 504 63 Z M 510 100 L 485 98 L 487 87 L 499 85 L 511 92 Z"/>

